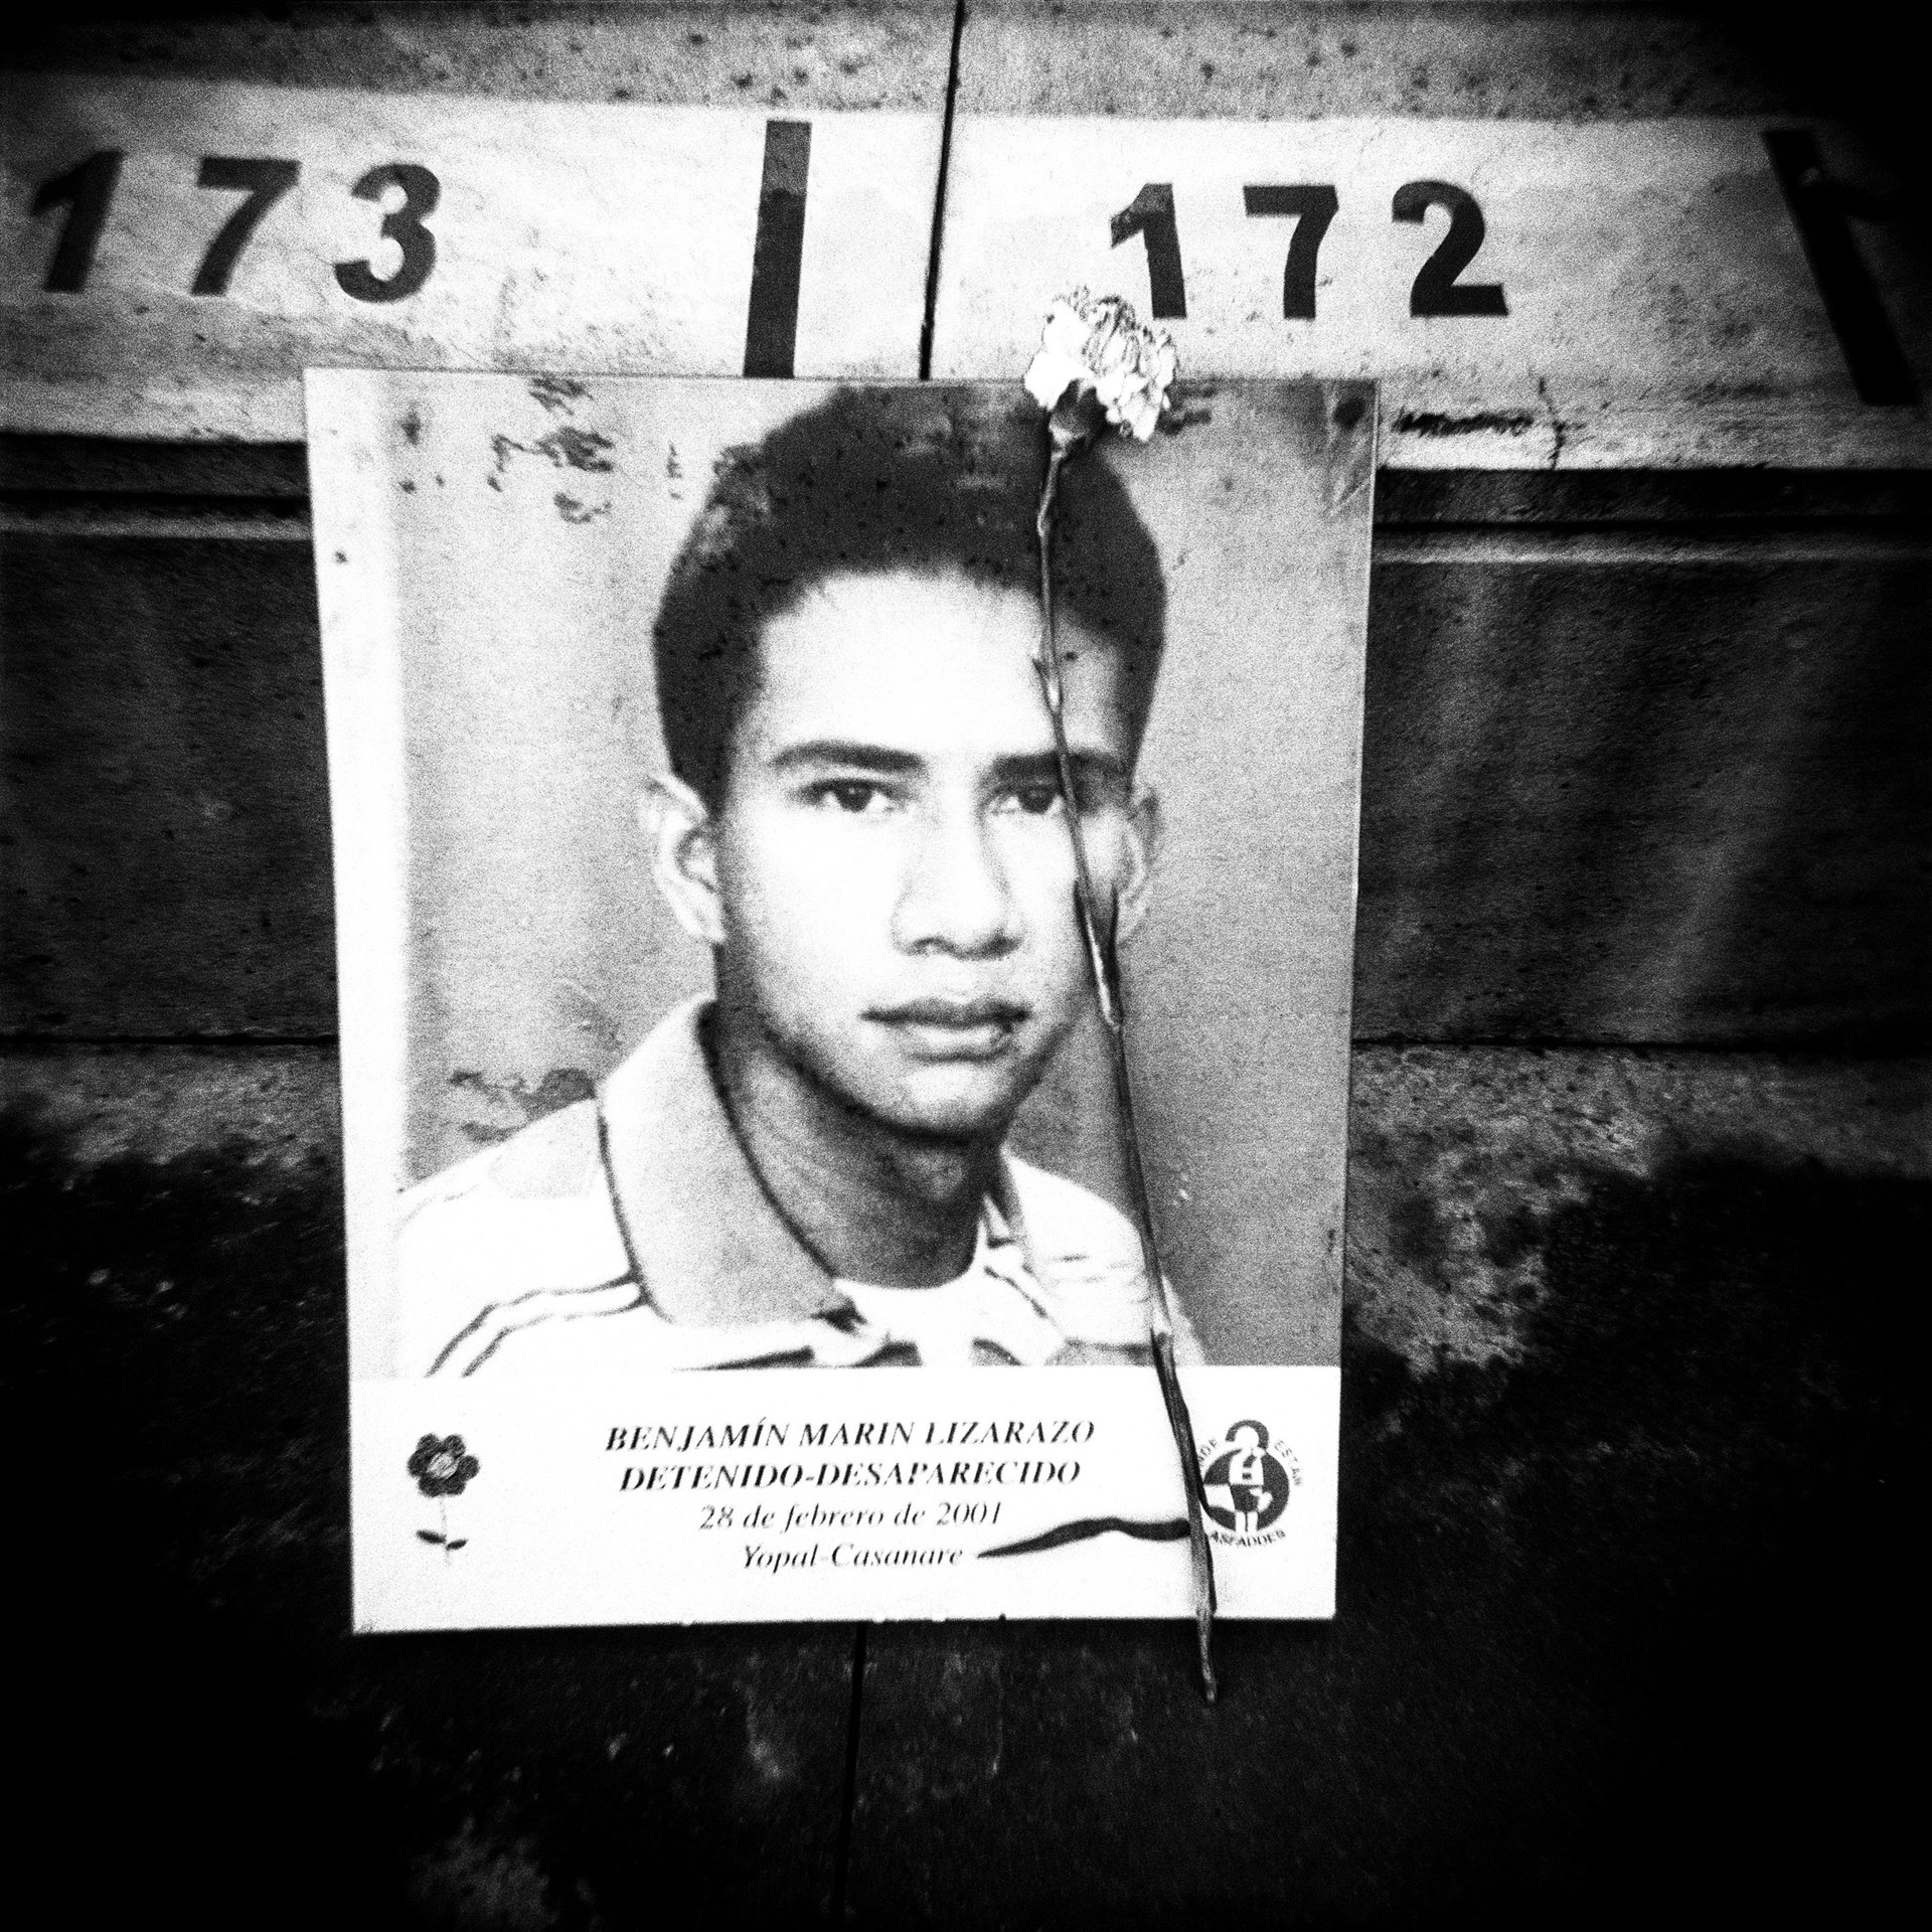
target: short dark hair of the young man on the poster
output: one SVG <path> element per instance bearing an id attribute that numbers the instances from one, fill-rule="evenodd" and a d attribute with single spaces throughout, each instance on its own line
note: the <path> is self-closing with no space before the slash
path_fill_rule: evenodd
<path id="1" fill-rule="evenodd" d="M 1043 473 L 1041 413 L 1018 384 L 840 388 L 726 450 L 653 630 L 670 769 L 723 802 L 763 626 L 825 578 L 945 570 L 1037 595 Z M 1059 506 L 1055 605 L 1121 649 L 1138 752 L 1165 643 L 1161 558 L 1105 446 L 1066 466 Z"/>

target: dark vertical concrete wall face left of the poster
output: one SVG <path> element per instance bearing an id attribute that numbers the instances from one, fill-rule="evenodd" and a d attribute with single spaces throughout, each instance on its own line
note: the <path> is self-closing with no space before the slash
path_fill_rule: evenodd
<path id="1" fill-rule="evenodd" d="M 307 545 L 15 539 L 0 609 L 12 1026 L 332 1034 Z"/>

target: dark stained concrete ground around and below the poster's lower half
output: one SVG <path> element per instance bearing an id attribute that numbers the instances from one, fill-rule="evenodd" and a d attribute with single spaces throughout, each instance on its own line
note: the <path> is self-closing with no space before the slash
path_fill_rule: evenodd
<path id="1" fill-rule="evenodd" d="M 19 1656 L 112 1917 L 831 1913 L 850 1633 L 352 1640 L 334 1059 L 0 1059 Z M 1341 1615 L 875 1629 L 856 1924 L 1835 1907 L 1899 1882 L 1932 1066 L 1356 1055 Z"/>

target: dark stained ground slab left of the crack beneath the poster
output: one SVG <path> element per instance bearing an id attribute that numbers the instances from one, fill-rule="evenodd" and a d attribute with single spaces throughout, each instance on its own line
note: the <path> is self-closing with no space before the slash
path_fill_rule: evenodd
<path id="1" fill-rule="evenodd" d="M 58 1687 L 17 1748 L 50 1828 L 112 1837 L 73 1907 L 823 1918 L 848 1629 L 348 1634 L 334 1082 L 315 1049 L 6 1066 L 21 1656 Z"/>

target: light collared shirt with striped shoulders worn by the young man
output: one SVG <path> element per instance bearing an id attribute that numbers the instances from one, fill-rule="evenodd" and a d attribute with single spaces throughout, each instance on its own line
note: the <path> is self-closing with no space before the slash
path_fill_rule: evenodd
<path id="1" fill-rule="evenodd" d="M 703 1010 L 668 1014 L 593 1099 L 404 1196 L 400 1374 L 1148 1360 L 1132 1223 L 1010 1153 L 958 1279 L 835 1279 L 746 1159 Z M 1200 1360 L 1184 1327 L 1175 1347 Z"/>

